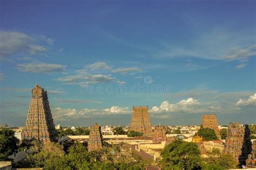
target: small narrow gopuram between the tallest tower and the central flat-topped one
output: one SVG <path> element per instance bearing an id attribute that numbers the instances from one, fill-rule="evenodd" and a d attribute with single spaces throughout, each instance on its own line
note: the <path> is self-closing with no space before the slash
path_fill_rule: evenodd
<path id="1" fill-rule="evenodd" d="M 90 136 L 88 139 L 88 151 L 96 150 L 103 147 L 102 133 L 100 126 L 96 123 L 91 126 Z"/>

